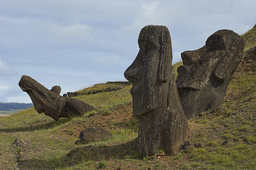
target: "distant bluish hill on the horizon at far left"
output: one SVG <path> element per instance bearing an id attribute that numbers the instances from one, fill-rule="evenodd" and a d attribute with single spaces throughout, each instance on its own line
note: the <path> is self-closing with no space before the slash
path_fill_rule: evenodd
<path id="1" fill-rule="evenodd" d="M 32 103 L 0 103 L 0 111 L 22 110 L 32 108 Z"/>

